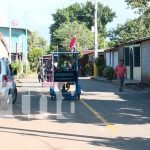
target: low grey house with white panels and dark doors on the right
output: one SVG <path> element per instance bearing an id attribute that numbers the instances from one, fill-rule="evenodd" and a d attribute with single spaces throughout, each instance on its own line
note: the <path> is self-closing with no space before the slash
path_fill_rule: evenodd
<path id="1" fill-rule="evenodd" d="M 150 37 L 133 40 L 105 50 L 106 65 L 115 67 L 123 59 L 127 78 L 150 85 Z"/>

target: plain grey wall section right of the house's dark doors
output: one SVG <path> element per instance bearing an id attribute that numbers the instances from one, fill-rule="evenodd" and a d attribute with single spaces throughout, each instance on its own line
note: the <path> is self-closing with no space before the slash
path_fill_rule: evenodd
<path id="1" fill-rule="evenodd" d="M 142 81 L 150 85 L 150 40 L 141 43 Z"/>

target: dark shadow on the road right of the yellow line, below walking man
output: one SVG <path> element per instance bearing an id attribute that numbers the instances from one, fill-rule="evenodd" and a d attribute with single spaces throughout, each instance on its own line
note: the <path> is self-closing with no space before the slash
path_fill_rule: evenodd
<path id="1" fill-rule="evenodd" d="M 125 89 L 125 92 L 120 93 L 117 91 L 117 85 L 97 80 L 80 80 L 80 83 L 82 90 L 85 91 L 84 100 L 110 123 L 150 123 L 150 93 L 140 93 L 130 89 Z M 106 94 L 103 96 L 98 92 Z M 109 95 L 110 93 L 119 97 L 119 100 Z"/>

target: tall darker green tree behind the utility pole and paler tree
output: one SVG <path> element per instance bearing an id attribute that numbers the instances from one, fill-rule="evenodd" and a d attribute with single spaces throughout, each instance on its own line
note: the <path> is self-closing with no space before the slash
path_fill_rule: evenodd
<path id="1" fill-rule="evenodd" d="M 98 31 L 101 39 L 106 36 L 106 25 L 113 20 L 115 13 L 108 7 L 98 3 Z M 84 24 L 89 30 L 94 25 L 94 4 L 91 1 L 85 4 L 75 3 L 67 8 L 58 9 L 53 14 L 54 24 L 50 27 L 52 46 L 62 46 L 62 40 L 56 36 L 56 32 L 62 27 L 62 24 L 78 22 Z M 100 39 L 100 40 L 101 40 Z"/>

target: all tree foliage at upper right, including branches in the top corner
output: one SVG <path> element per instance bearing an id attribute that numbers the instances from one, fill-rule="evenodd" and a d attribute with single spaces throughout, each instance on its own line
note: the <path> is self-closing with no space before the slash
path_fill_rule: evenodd
<path id="1" fill-rule="evenodd" d="M 120 24 L 116 29 L 109 32 L 109 46 L 117 43 L 126 43 L 135 39 L 150 36 L 150 0 L 125 0 L 133 9 L 138 8 L 140 15 L 138 18 L 128 20 Z"/>

